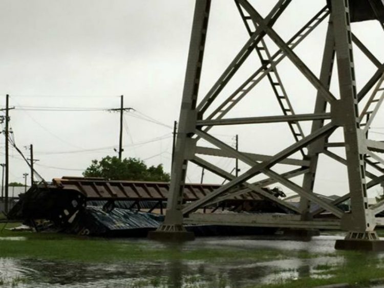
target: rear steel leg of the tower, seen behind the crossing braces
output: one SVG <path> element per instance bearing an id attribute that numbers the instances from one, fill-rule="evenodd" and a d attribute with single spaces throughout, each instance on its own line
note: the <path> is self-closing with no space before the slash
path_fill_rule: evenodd
<path id="1" fill-rule="evenodd" d="M 320 82 L 329 89 L 332 78 L 332 70 L 335 57 L 335 39 L 333 34 L 332 21 L 328 24 L 327 36 L 325 41 L 325 49 L 323 54 L 323 63 L 320 72 Z M 314 114 L 325 113 L 327 108 L 327 101 L 317 92 Z M 324 120 L 314 120 L 312 122 L 311 133 L 324 126 Z M 319 139 L 308 146 L 308 159 L 310 160 L 309 171 L 304 175 L 303 189 L 313 192 L 315 184 L 315 176 L 318 162 L 318 154 L 324 151 L 325 139 Z M 310 209 L 310 201 L 304 197 L 300 199 L 300 210 L 302 211 L 303 220 L 309 220 L 308 213 Z"/>

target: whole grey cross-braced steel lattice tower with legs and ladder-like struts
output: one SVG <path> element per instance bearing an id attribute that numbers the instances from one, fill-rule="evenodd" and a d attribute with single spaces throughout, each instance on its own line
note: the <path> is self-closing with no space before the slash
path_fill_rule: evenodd
<path id="1" fill-rule="evenodd" d="M 196 1 L 167 212 L 164 224 L 158 229 L 158 232 L 182 233 L 185 231 L 183 224 L 191 223 L 248 225 L 299 229 L 342 229 L 349 231 L 348 239 L 377 240 L 374 229 L 382 221 L 375 215 L 384 210 L 384 202 L 369 207 L 367 189 L 382 185 L 384 182 L 384 159 L 378 154 L 384 152 L 384 142 L 369 139 L 368 130 L 384 100 L 384 63 L 381 63 L 353 34 L 348 0 L 328 2 L 288 41 L 284 41 L 275 32 L 273 26 L 290 5 L 291 0 L 277 1 L 265 18 L 247 0 L 234 0 L 249 34 L 249 39 L 209 92 L 204 97 L 199 97 L 201 100 L 198 102 L 210 2 L 210 0 Z M 327 20 L 328 28 L 321 72 L 317 77 L 294 50 L 319 24 Z M 278 51 L 274 54 L 270 53 L 265 36 L 268 36 L 278 47 Z M 377 71 L 360 91 L 356 89 L 353 45 L 361 50 L 377 68 Z M 257 53 L 261 61 L 260 68 L 250 75 L 236 91 L 219 103 L 213 112 L 208 114 L 208 108 L 212 103 L 218 101 L 218 96 L 223 88 L 251 53 Z M 311 114 L 295 114 L 294 112 L 278 72 L 278 65 L 285 58 L 295 65 L 317 91 Z M 337 98 L 330 92 L 335 61 L 340 92 L 340 97 Z M 272 87 L 282 114 L 268 117 L 225 118 L 225 115 L 265 78 Z M 369 94 L 370 96 L 367 96 Z M 369 97 L 366 101 L 367 104 L 359 113 L 358 104 L 366 96 Z M 311 121 L 311 131 L 308 135 L 304 134 L 301 121 Z M 209 133 L 212 127 L 218 125 L 280 122 L 288 124 L 295 141 L 272 156 L 238 151 Z M 329 142 L 329 137 L 338 127 L 343 129 L 345 141 Z M 215 148 L 203 147 L 199 144 L 199 140 L 207 141 Z M 345 147 L 346 158 L 330 151 L 330 147 Z M 292 154 L 297 154 L 297 152 L 301 153 L 301 159 L 292 158 Z M 249 165 L 250 168 L 235 176 L 204 160 L 199 154 L 238 159 Z M 347 167 L 349 192 L 333 203 L 327 202 L 313 193 L 320 154 L 325 154 Z M 195 202 L 183 203 L 181 193 L 188 162 L 220 175 L 228 182 Z M 278 173 L 274 166 L 280 164 L 297 167 L 286 173 Z M 367 166 L 373 167 L 377 173 L 369 172 Z M 255 183 L 249 182 L 259 174 L 266 175 L 267 179 Z M 292 181 L 292 178 L 299 175 L 303 177 L 302 185 L 297 185 Z M 367 181 L 368 178 L 370 181 Z M 262 189 L 275 183 L 280 183 L 300 195 L 300 207 L 293 206 Z M 201 211 L 202 208 L 218 204 L 233 195 L 250 192 L 275 202 L 292 213 L 287 215 L 223 214 L 202 213 Z M 340 210 L 337 205 L 349 198 L 350 211 Z M 311 210 L 311 203 L 317 204 L 319 208 Z M 325 211 L 331 216 L 317 217 Z"/>

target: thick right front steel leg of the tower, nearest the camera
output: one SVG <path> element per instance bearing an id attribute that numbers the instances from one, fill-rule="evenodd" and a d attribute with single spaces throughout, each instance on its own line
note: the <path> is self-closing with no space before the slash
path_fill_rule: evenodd
<path id="1" fill-rule="evenodd" d="M 368 209 L 362 148 L 365 135 L 359 124 L 348 0 L 332 0 L 332 19 L 340 90 L 340 100 L 332 105 L 332 121 L 344 128 L 352 211 L 343 217 L 342 227 L 364 233 L 373 231 L 375 223 Z"/>

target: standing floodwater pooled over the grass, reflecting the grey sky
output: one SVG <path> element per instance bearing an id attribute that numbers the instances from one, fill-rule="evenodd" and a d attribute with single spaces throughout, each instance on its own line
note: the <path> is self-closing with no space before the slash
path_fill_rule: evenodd
<path id="1" fill-rule="evenodd" d="M 84 264 L 67 261 L 0 258 L 0 281 L 12 287 L 245 287 L 279 283 L 299 277 L 330 277 L 324 267 L 346 261 L 334 252 L 334 242 L 342 236 L 317 236 L 311 241 L 255 240 L 252 237 L 198 238 L 183 250 L 277 249 L 307 251 L 313 258 L 288 258 L 266 261 L 231 259 L 210 261 L 142 261 L 114 264 Z M 149 240 L 127 240 L 151 243 Z M 316 256 L 318 255 L 318 256 Z"/>

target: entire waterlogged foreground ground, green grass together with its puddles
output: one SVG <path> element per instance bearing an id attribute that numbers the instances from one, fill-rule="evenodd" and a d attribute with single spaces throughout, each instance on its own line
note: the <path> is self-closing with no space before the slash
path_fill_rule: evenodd
<path id="1" fill-rule="evenodd" d="M 383 254 L 336 251 L 337 235 L 310 242 L 213 237 L 176 245 L 3 228 L 0 224 L 4 287 L 369 286 L 371 279 L 384 277 Z"/>

